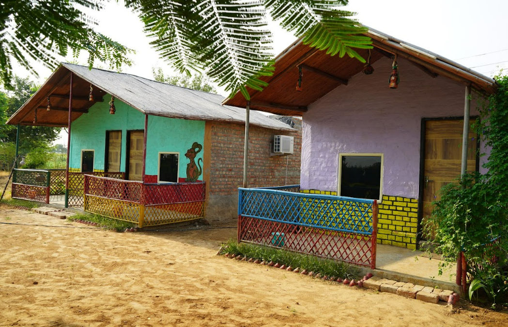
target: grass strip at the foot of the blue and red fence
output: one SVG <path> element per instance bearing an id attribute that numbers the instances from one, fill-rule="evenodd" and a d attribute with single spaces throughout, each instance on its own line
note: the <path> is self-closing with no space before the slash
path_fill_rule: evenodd
<path id="1" fill-rule="evenodd" d="M 259 246 L 246 243 L 237 243 L 229 240 L 222 244 L 221 254 L 234 253 L 255 259 L 273 261 L 281 265 L 300 268 L 300 270 L 313 271 L 315 274 L 320 273 L 322 276 L 333 276 L 348 279 L 357 279 L 359 270 L 351 265 L 341 263 L 339 261 L 322 259 L 316 256 L 290 252 L 286 250 Z"/>

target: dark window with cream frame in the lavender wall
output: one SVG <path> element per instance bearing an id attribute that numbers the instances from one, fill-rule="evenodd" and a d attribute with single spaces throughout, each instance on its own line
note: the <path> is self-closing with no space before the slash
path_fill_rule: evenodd
<path id="1" fill-rule="evenodd" d="M 339 155 L 338 194 L 342 197 L 379 200 L 383 185 L 383 154 Z"/>

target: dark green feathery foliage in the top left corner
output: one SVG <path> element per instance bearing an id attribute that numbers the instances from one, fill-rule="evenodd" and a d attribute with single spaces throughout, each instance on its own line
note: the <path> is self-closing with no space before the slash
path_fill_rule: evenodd
<path id="1" fill-rule="evenodd" d="M 77 57 L 88 53 L 88 66 L 95 59 L 119 69 L 130 64 L 130 49 L 94 31 L 95 22 L 80 8 L 102 9 L 102 0 L 3 0 L 0 6 L 0 78 L 12 88 L 13 60 L 37 76 L 34 61 L 54 69 L 57 56 L 69 51 Z"/>

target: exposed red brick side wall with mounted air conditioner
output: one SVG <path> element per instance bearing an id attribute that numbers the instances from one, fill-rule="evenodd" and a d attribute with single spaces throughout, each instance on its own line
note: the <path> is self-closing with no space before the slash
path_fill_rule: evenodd
<path id="1" fill-rule="evenodd" d="M 211 124 L 210 194 L 233 195 L 243 181 L 244 125 L 227 122 Z M 295 128 L 301 128 L 301 121 Z M 294 137 L 294 153 L 270 157 L 274 135 Z M 248 187 L 278 186 L 300 183 L 301 129 L 281 132 L 250 126 L 248 154 Z M 286 165 L 288 165 L 286 181 Z"/>

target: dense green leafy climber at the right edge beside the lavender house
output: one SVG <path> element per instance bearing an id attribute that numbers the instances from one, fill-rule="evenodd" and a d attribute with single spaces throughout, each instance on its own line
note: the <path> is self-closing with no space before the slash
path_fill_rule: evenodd
<path id="1" fill-rule="evenodd" d="M 444 186 L 425 226 L 435 231 L 437 250 L 450 263 L 464 251 L 469 276 L 480 280 L 494 303 L 508 301 L 508 77 L 497 83 L 477 125 L 491 148 L 488 172 Z"/>

